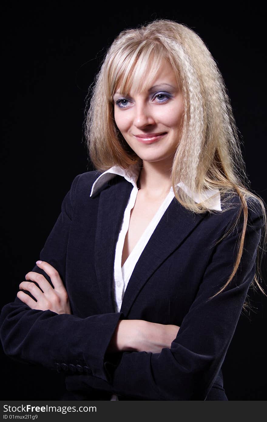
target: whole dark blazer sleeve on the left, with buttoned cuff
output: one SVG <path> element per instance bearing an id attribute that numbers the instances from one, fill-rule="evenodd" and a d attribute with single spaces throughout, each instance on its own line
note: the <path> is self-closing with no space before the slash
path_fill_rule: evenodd
<path id="1" fill-rule="evenodd" d="M 61 207 L 61 213 L 40 252 L 40 260 L 57 269 L 65 283 L 67 242 L 75 207 L 76 185 L 73 180 Z M 32 271 L 50 277 L 37 265 Z M 122 313 L 99 314 L 87 318 L 31 309 L 19 298 L 5 305 L 0 314 L 0 339 L 5 354 L 15 360 L 40 364 L 58 370 L 76 365 L 81 373 L 92 373 L 110 380 L 104 356 Z M 71 367 L 71 366 L 70 366 Z"/>

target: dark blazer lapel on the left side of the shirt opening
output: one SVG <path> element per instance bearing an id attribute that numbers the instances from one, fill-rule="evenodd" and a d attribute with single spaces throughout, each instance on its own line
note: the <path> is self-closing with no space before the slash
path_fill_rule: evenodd
<path id="1" fill-rule="evenodd" d="M 105 313 L 115 312 L 113 271 L 116 243 L 132 184 L 121 176 L 107 183 L 99 198 L 95 238 L 95 269 Z"/>

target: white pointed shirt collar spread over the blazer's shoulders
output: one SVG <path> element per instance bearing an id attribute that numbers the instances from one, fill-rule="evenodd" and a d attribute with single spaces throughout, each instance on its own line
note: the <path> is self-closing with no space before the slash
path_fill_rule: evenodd
<path id="1" fill-rule="evenodd" d="M 124 177 L 128 182 L 132 183 L 134 187 L 137 187 L 137 180 L 140 173 L 140 168 L 138 165 L 132 165 L 127 169 L 123 169 L 117 165 L 109 168 L 108 170 L 104 171 L 104 173 L 100 174 L 100 176 L 94 181 L 91 194 L 94 195 L 105 183 L 113 179 L 116 175 Z M 190 189 L 181 181 L 177 184 L 183 191 L 186 192 L 196 203 L 201 202 L 201 197 L 196 193 L 192 193 Z M 173 187 L 170 188 L 173 191 Z M 215 195 L 216 194 L 216 195 Z M 221 198 L 220 192 L 218 189 L 206 189 L 202 199 L 208 199 L 211 196 L 215 195 L 213 198 L 210 199 L 209 205 L 210 208 L 213 210 L 221 211 Z"/>

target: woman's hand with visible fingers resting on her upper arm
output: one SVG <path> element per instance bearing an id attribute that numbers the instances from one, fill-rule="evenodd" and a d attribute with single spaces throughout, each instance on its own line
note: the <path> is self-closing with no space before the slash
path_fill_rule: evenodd
<path id="1" fill-rule="evenodd" d="M 30 271 L 26 274 L 25 279 L 35 281 L 40 289 L 30 281 L 22 281 L 19 288 L 30 292 L 37 302 L 22 291 L 17 293 L 17 297 L 31 309 L 40 309 L 41 311 L 50 309 L 57 314 L 71 314 L 67 290 L 58 271 L 45 261 L 37 261 L 36 264 L 50 277 L 54 289 L 42 274 Z"/>

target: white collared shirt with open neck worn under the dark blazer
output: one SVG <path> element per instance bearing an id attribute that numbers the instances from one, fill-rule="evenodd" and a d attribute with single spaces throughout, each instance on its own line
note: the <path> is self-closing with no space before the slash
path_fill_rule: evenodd
<path id="1" fill-rule="evenodd" d="M 173 187 L 170 188 L 170 192 L 165 197 L 165 200 L 162 202 L 159 209 L 156 211 L 156 214 L 151 219 L 150 223 L 146 227 L 146 230 L 141 235 L 139 241 L 136 243 L 135 247 L 132 249 L 132 252 L 129 254 L 127 260 L 124 262 L 124 265 L 121 267 L 121 257 L 122 257 L 122 250 L 124 247 L 125 236 L 127 234 L 130 222 L 130 215 L 132 208 L 135 205 L 135 200 L 138 193 L 137 187 L 137 180 L 139 177 L 140 168 L 136 165 L 131 166 L 127 170 L 122 169 L 118 166 L 113 166 L 109 170 L 106 170 L 102 173 L 95 181 L 92 186 L 91 194 L 92 196 L 98 189 L 100 189 L 106 182 L 113 179 L 116 175 L 123 176 L 127 181 L 132 183 L 132 192 L 129 197 L 128 204 L 124 211 L 123 220 L 121 223 L 121 229 L 119 232 L 119 237 L 116 243 L 115 249 L 115 260 L 114 260 L 114 278 L 113 278 L 113 301 L 116 312 L 120 312 L 121 303 L 123 300 L 124 292 L 129 282 L 129 279 L 134 271 L 135 265 L 138 262 L 140 255 L 142 254 L 143 250 L 146 247 L 151 235 L 153 234 L 156 226 L 158 225 L 160 219 L 162 218 L 163 214 L 167 210 L 168 206 L 172 202 L 174 198 Z M 183 182 L 178 183 L 178 186 L 183 189 L 187 195 L 191 196 L 195 202 L 199 203 L 200 198 L 197 195 L 193 195 L 190 190 L 186 187 Z M 216 195 L 215 195 L 216 194 Z M 221 211 L 221 199 L 220 193 L 218 189 L 207 189 L 205 192 L 205 198 L 209 198 L 215 195 L 210 200 L 210 208 L 214 210 Z M 113 394 L 111 400 L 118 400 L 116 394 Z"/>

